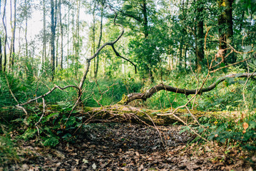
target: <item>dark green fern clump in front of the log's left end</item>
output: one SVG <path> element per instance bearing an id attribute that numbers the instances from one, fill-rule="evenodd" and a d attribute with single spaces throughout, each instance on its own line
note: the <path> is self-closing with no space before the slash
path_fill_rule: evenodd
<path id="1" fill-rule="evenodd" d="M 13 120 L 14 123 L 19 123 L 23 125 L 25 129 L 21 129 L 20 138 L 23 140 L 31 140 L 39 138 L 43 145 L 55 147 L 58 143 L 63 141 L 73 140 L 73 133 L 82 124 L 82 118 L 74 114 L 68 115 L 71 112 L 73 105 L 68 102 L 59 102 L 58 105 L 51 105 L 51 109 L 45 113 L 43 118 L 41 118 L 41 110 L 36 110 L 36 108 L 31 108 L 34 114 L 30 114 L 27 119 L 17 119 Z M 54 113 L 53 111 L 56 111 Z M 38 113 L 36 113 L 38 112 Z M 73 111 L 76 113 L 76 111 Z M 41 122 L 36 128 L 35 123 Z M 26 125 L 26 126 L 25 126 Z M 40 135 L 38 137 L 38 135 Z"/>

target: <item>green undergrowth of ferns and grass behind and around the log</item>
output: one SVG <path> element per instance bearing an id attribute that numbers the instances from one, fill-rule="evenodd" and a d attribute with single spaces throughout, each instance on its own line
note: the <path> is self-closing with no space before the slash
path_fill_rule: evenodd
<path id="1" fill-rule="evenodd" d="M 205 75 L 202 74 L 197 78 L 200 83 Z M 215 74 L 206 81 L 205 85 L 209 86 L 220 76 L 222 75 Z M 0 113 L 4 120 L 9 120 L 6 124 L 19 125 L 18 132 L 21 140 L 37 140 L 42 145 L 55 147 L 59 142 L 75 140 L 76 135 L 73 133 L 81 126 L 85 130 L 90 129 L 90 126 L 82 125 L 84 118 L 79 114 L 79 111 L 74 110 L 71 113 L 77 97 L 77 91 L 73 88 L 64 91 L 54 90 L 51 95 L 47 95 L 45 97 L 46 113 L 42 118 L 43 105 L 41 99 L 36 101 L 37 105 L 24 106 L 29 111 L 29 115 L 26 117 L 21 114 L 14 117 L 14 113 L 11 112 L 16 105 L 16 101 L 10 93 L 10 89 L 19 103 L 25 103 L 29 99 L 46 93 L 54 85 L 62 87 L 77 85 L 78 81 L 56 79 L 54 82 L 49 82 L 36 78 L 27 80 L 11 75 L 6 75 L 6 77 L 10 87 L 7 86 L 5 76 L 0 75 Z M 227 79 L 214 90 L 198 95 L 195 103 L 192 101 L 188 106 L 189 108 L 207 111 L 237 111 L 238 114 L 231 117 L 235 119 L 221 117 L 221 115 L 213 118 L 202 117 L 199 118 L 200 125 L 190 126 L 208 140 L 217 140 L 222 144 L 239 145 L 247 150 L 256 150 L 256 87 L 255 81 L 248 81 L 246 86 L 245 81 L 246 78 Z M 90 107 L 113 105 L 121 100 L 123 94 L 143 92 L 158 83 L 187 89 L 197 88 L 198 84 L 192 73 L 186 75 L 184 73 L 172 73 L 170 76 L 163 77 L 163 81 L 155 81 L 155 83 L 150 83 L 150 81 L 142 83 L 130 76 L 115 79 L 89 79 L 86 80 L 84 86 L 82 102 L 84 106 Z M 160 91 L 147 101 L 137 100 L 132 104 L 151 109 L 177 108 L 184 105 L 189 98 L 191 98 L 191 95 L 186 97 L 183 94 Z M 51 108 L 47 108 L 48 104 L 51 104 Z M 11 115 L 4 115 L 6 111 L 9 111 Z M 36 126 L 35 124 L 40 118 L 41 122 Z M 15 129 L 16 126 L 13 126 L 13 128 Z M 183 130 L 188 130 L 188 127 L 184 127 Z M 14 144 L 4 133 L 0 133 L 0 152 L 1 162 L 7 160 L 10 156 L 16 158 Z"/>

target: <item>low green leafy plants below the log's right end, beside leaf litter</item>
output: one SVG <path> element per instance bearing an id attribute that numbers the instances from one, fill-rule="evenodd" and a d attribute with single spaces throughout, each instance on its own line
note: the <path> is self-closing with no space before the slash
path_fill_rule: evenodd
<path id="1" fill-rule="evenodd" d="M 197 126 L 195 129 L 199 133 L 203 133 L 208 140 L 217 140 L 227 145 L 236 142 L 247 150 L 256 150 L 254 143 L 256 140 L 256 113 L 247 113 L 247 117 L 243 117 L 245 117 L 245 113 L 236 115 L 237 119 L 232 120 L 227 117 L 203 117 L 199 119 L 201 126 Z"/>

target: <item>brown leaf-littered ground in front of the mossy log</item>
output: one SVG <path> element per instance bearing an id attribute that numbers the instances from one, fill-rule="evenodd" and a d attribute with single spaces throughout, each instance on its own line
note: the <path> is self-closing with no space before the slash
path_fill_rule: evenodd
<path id="1" fill-rule="evenodd" d="M 188 143 L 181 126 L 97 123 L 75 142 L 49 148 L 20 141 L 22 159 L 0 170 L 252 170 L 255 165 L 239 147 L 215 142 Z M 256 160 L 256 157 L 250 157 Z M 255 162 L 254 162 L 255 163 Z"/>

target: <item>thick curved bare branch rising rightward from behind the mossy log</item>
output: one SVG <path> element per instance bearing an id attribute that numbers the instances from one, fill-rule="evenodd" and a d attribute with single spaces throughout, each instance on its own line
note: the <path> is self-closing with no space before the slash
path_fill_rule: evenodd
<path id="1" fill-rule="evenodd" d="M 163 83 L 158 84 L 157 86 L 153 86 L 153 88 L 150 88 L 149 90 L 146 90 L 145 93 L 130 93 L 128 95 L 123 95 L 123 98 L 118 104 L 123 104 L 127 105 L 133 100 L 136 99 L 142 99 L 142 100 L 147 100 L 150 98 L 153 94 L 157 93 L 160 90 L 167 90 L 173 93 L 181 93 L 185 95 L 190 95 L 190 94 L 195 94 L 199 93 L 202 94 L 204 92 L 208 92 L 210 90 L 213 90 L 219 83 L 222 81 L 225 81 L 226 78 L 241 78 L 241 77 L 253 77 L 256 76 L 256 73 L 234 73 L 234 74 L 229 74 L 227 76 L 222 76 L 218 78 L 213 84 L 208 86 L 207 88 L 201 88 L 201 89 L 193 89 L 193 90 L 188 90 L 184 88 L 175 88 L 172 86 L 166 86 Z"/>

